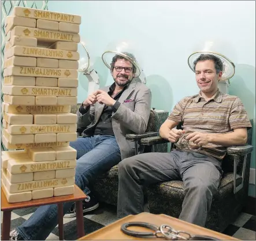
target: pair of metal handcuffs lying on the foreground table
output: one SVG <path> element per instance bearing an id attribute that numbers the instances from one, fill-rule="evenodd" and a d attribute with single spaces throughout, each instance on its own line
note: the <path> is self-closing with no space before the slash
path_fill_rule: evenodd
<path id="1" fill-rule="evenodd" d="M 153 230 L 154 232 L 138 232 L 127 229 L 128 227 L 144 227 Z M 204 235 L 190 235 L 184 231 L 176 231 L 172 227 L 166 224 L 157 226 L 154 224 L 143 223 L 143 222 L 129 222 L 121 225 L 121 231 L 124 234 L 137 238 L 164 238 L 166 240 L 220 240 L 210 236 Z M 181 235 L 183 234 L 183 235 Z"/>

